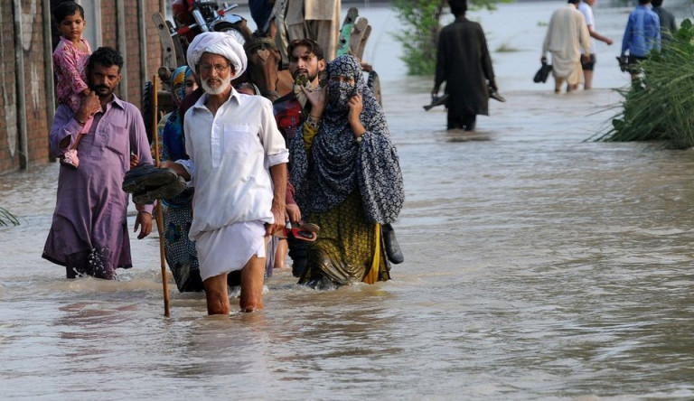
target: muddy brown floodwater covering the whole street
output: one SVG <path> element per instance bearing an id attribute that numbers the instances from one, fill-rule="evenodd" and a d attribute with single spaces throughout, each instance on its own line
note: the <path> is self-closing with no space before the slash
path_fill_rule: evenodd
<path id="1" fill-rule="evenodd" d="M 169 275 L 164 318 L 156 233 L 131 234 L 121 281 L 68 281 L 41 258 L 58 164 L 0 176 L 22 223 L 0 228 L 0 399 L 694 398 L 694 152 L 586 141 L 628 83 L 628 8 L 596 8 L 615 43 L 595 89 L 532 83 L 562 5 L 471 13 L 508 99 L 473 134 L 423 111 L 433 78 L 405 76 L 391 11 L 361 9 L 405 177 L 386 283 L 316 292 L 276 270 L 264 311 L 208 317 Z"/>

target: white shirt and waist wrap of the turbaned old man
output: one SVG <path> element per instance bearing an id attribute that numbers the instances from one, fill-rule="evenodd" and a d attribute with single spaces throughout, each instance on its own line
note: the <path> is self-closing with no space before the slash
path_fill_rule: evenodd
<path id="1" fill-rule="evenodd" d="M 184 166 L 195 187 L 189 237 L 202 280 L 265 256 L 264 223 L 274 220 L 269 167 L 288 161 L 267 98 L 232 90 L 214 116 L 206 100 L 202 95 L 186 112 L 183 126 L 190 156 Z"/>

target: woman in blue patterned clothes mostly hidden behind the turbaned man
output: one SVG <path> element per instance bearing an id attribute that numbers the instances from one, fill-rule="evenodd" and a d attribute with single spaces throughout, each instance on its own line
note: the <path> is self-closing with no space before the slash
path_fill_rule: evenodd
<path id="1" fill-rule="evenodd" d="M 171 75 L 171 94 L 175 109 L 162 117 L 157 126 L 159 137 L 159 157 L 176 161 L 187 159 L 183 122 L 178 106 L 181 100 L 197 88 L 195 76 L 187 67 L 179 67 Z M 187 189 L 174 198 L 163 201 L 166 206 L 164 217 L 164 253 L 166 262 L 174 274 L 178 291 L 202 291 L 202 280 L 198 267 L 198 253 L 195 243 L 188 238 L 188 229 L 192 221 L 192 189 Z"/>

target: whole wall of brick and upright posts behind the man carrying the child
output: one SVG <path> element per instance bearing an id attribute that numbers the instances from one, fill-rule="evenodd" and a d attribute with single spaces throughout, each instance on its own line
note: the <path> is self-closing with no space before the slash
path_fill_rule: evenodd
<path id="1" fill-rule="evenodd" d="M 79 3 L 85 8 L 100 8 L 100 44 L 123 53 L 126 66 L 121 91 L 127 94 L 127 101 L 139 107 L 143 79 L 151 79 L 161 64 L 158 33 L 151 19 L 151 14 L 163 11 L 160 1 Z M 31 169 L 32 165 L 50 161 L 48 133 L 55 111 L 51 25 L 45 17 L 50 4 L 50 0 L 0 0 L 0 173 Z M 117 12 L 118 8 L 122 13 Z M 139 25 L 142 21 L 144 38 Z M 125 33 L 125 38 L 119 38 L 119 32 Z M 91 44 L 94 49 L 99 45 Z"/>

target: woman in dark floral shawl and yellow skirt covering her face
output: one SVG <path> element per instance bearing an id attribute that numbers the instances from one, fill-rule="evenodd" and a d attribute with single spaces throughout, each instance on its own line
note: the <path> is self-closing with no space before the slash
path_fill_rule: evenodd
<path id="1" fill-rule="evenodd" d="M 341 56 L 327 72 L 327 95 L 305 91 L 311 115 L 289 145 L 295 199 L 321 227 L 299 284 L 389 280 L 380 226 L 398 218 L 405 199 L 398 153 L 359 62 Z"/>

